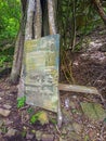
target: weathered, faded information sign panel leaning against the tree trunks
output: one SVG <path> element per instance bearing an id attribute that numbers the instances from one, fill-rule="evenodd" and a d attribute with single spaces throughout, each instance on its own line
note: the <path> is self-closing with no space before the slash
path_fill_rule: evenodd
<path id="1" fill-rule="evenodd" d="M 25 42 L 26 103 L 57 112 L 59 35 Z"/>

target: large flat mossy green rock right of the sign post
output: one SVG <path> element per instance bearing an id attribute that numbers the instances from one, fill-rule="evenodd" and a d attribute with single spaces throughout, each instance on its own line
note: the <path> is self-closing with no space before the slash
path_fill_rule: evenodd
<path id="1" fill-rule="evenodd" d="M 84 115 L 87 115 L 90 119 L 101 121 L 106 118 L 106 112 L 98 103 L 81 102 L 81 107 Z"/>

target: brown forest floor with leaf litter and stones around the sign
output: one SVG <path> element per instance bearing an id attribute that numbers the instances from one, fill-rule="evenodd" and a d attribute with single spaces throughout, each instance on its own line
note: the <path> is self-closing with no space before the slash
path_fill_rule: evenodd
<path id="1" fill-rule="evenodd" d="M 105 102 L 106 29 L 88 35 L 81 51 L 66 53 L 76 84 L 97 88 Z M 61 77 L 66 82 L 63 69 Z M 8 80 L 5 72 L 0 76 L 0 141 L 106 141 L 106 106 L 98 95 L 61 91 L 62 127 L 57 127 L 57 115 L 47 111 L 30 124 L 32 114 L 42 110 L 26 104 L 17 108 L 17 86 Z"/>

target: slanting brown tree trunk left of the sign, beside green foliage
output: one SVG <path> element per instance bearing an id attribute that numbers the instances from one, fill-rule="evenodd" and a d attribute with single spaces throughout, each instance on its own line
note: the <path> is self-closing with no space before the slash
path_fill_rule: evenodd
<path id="1" fill-rule="evenodd" d="M 23 1 L 22 1 L 23 2 Z M 24 28 L 25 28 L 25 11 L 26 7 L 22 3 L 22 20 L 19 31 L 17 34 L 16 42 L 15 42 L 15 51 L 14 51 L 14 59 L 13 59 L 13 66 L 10 76 L 10 82 L 17 84 L 21 68 L 22 68 L 22 59 L 23 59 L 23 49 L 24 49 Z"/>

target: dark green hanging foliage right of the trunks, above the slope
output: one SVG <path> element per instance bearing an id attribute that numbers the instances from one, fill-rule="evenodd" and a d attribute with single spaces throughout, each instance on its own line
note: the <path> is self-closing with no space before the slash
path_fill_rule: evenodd
<path id="1" fill-rule="evenodd" d="M 77 38 L 80 37 L 82 40 L 84 35 L 102 23 L 94 4 L 90 0 L 58 0 L 57 20 L 62 36 L 61 47 L 74 50 Z"/>

